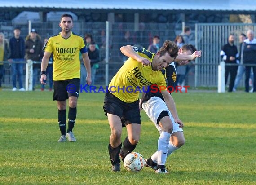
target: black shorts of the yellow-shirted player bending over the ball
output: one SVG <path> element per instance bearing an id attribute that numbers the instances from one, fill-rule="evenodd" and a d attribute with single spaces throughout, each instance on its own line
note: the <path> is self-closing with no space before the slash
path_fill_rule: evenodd
<path id="1" fill-rule="evenodd" d="M 104 99 L 103 110 L 106 113 L 117 115 L 122 121 L 123 127 L 130 123 L 141 124 L 141 115 L 139 108 L 139 100 L 132 103 L 126 103 L 107 92 Z"/>

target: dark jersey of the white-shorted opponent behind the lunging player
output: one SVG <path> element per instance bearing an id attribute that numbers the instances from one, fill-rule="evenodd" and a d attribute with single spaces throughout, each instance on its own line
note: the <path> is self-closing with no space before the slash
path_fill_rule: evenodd
<path id="1" fill-rule="evenodd" d="M 175 88 L 174 83 L 176 82 L 176 78 L 177 78 L 174 62 L 172 62 L 172 64 L 170 64 L 168 67 L 166 67 L 164 72 L 167 79 L 168 91 L 171 94 L 171 92 L 173 92 L 172 88 Z M 162 93 L 160 93 L 160 90 L 156 84 L 149 86 L 149 89 L 147 90 L 144 98 L 142 99 L 142 102 L 148 101 L 151 97 L 159 97 L 164 101 L 163 95 Z"/>

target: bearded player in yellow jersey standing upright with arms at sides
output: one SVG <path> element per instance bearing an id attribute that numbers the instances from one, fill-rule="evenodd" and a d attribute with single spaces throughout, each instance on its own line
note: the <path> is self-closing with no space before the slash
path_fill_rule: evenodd
<path id="1" fill-rule="evenodd" d="M 45 70 L 49 57 L 53 53 L 53 100 L 57 100 L 58 122 L 61 131 L 59 142 L 75 142 L 73 128 L 76 119 L 76 106 L 80 90 L 80 61 L 82 53 L 87 70 L 86 83 L 91 84 L 91 66 L 83 37 L 76 35 L 73 28 L 73 18 L 63 14 L 59 23 L 62 31 L 49 38 L 44 45 L 44 57 L 41 64 L 41 84 L 46 84 Z M 68 128 L 66 132 L 66 100 L 69 102 Z"/>

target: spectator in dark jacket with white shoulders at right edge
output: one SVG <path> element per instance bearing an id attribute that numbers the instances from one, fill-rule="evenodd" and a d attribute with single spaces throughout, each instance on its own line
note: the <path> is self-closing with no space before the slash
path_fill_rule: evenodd
<path id="1" fill-rule="evenodd" d="M 256 64 L 256 39 L 252 30 L 247 31 L 247 39 L 243 41 L 243 63 L 248 65 L 245 66 L 245 92 L 249 92 L 251 68 L 253 70 L 254 87 L 252 92 L 256 92 L 256 66 L 251 66 L 251 64 Z"/>

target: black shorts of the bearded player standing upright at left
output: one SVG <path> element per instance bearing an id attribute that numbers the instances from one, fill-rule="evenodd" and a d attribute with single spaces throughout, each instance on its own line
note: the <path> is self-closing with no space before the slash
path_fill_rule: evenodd
<path id="1" fill-rule="evenodd" d="M 65 101 L 69 97 L 78 97 L 79 92 L 79 78 L 53 81 L 53 100 Z"/>

